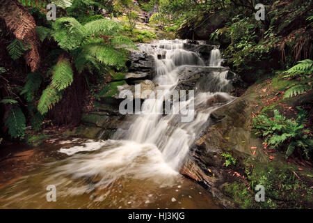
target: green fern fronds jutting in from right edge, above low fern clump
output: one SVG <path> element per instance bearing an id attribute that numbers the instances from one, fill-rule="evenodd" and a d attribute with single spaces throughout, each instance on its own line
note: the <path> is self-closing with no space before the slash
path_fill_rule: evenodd
<path id="1" fill-rule="evenodd" d="M 306 91 L 312 90 L 312 73 L 313 73 L 313 61 L 306 59 L 298 61 L 296 66 L 293 66 L 287 71 L 282 72 L 284 78 L 297 79 L 298 83 L 293 84 L 284 93 L 284 98 L 291 98 L 296 95 L 302 94 Z"/>

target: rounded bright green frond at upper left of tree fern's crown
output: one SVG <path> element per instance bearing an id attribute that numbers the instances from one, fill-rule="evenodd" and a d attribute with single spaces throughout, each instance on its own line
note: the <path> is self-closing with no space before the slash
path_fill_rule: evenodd
<path id="1" fill-rule="evenodd" d="M 61 17 L 53 24 L 52 36 L 58 45 L 65 50 L 76 49 L 86 37 L 86 29 L 72 17 Z"/>

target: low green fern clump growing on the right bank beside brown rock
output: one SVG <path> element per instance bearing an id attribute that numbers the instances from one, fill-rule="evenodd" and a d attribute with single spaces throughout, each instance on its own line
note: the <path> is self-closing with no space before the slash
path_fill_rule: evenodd
<path id="1" fill-rule="evenodd" d="M 265 137 L 265 141 L 272 148 L 286 146 L 286 157 L 298 148 L 309 158 L 313 146 L 312 134 L 310 130 L 305 129 L 306 112 L 300 107 L 298 109 L 300 112 L 296 120 L 287 119 L 278 110 L 274 110 L 273 118 L 268 118 L 265 114 L 256 116 L 253 119 L 253 127 L 257 130 L 256 134 Z"/>

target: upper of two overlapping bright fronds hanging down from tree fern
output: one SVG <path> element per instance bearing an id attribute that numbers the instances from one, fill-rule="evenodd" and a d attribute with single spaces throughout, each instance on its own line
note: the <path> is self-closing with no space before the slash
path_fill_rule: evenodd
<path id="1" fill-rule="evenodd" d="M 73 70 L 70 60 L 60 56 L 58 63 L 52 68 L 51 86 L 58 91 L 66 89 L 73 82 Z"/>

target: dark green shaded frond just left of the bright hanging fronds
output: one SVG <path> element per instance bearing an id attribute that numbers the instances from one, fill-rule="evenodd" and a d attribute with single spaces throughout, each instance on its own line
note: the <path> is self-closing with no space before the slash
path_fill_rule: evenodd
<path id="1" fill-rule="evenodd" d="M 21 92 L 25 95 L 27 102 L 32 102 L 35 91 L 37 91 L 42 83 L 42 75 L 38 72 L 31 72 L 27 75 L 26 84 Z"/>

